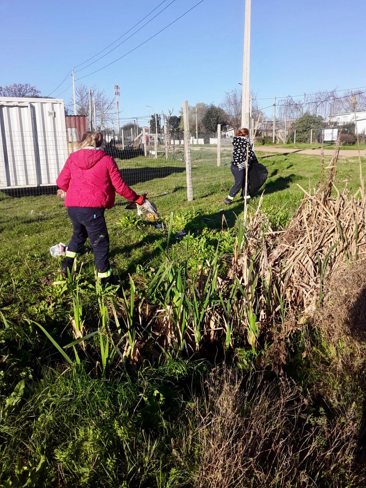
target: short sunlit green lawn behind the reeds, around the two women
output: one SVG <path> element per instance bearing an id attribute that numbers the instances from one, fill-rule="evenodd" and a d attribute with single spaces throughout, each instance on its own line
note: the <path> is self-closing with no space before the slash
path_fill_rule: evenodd
<path id="1" fill-rule="evenodd" d="M 236 216 L 243 211 L 243 201 L 239 198 L 227 207 L 224 198 L 233 178 L 229 169 L 230 153 L 222 155 L 222 166 L 207 162 L 209 154 L 204 151 L 193 153 L 192 179 L 194 201 L 186 201 L 185 172 L 183 162 L 168 162 L 163 159 L 144 161 L 142 158 L 120 162 L 122 175 L 137 193 L 148 192 L 165 220 L 170 212 L 175 212 L 175 231 L 194 233 L 203 226 L 221 229 L 223 215 L 232 226 Z M 265 184 L 264 209 L 274 221 L 282 219 L 283 224 L 290 217 L 302 198 L 302 191 L 317 185 L 321 177 L 319 157 L 296 154 L 266 155 L 260 160 L 268 169 Z M 329 158 L 326 158 L 329 161 Z M 162 177 L 164 174 L 167 176 Z M 340 188 L 349 179 L 348 187 L 358 185 L 358 161 L 356 158 L 342 159 L 338 165 L 338 185 Z M 164 194 L 164 193 L 167 194 Z M 136 211 L 126 210 L 125 201 L 117 196 L 113 209 L 106 212 L 106 220 L 111 239 L 111 261 L 115 271 L 122 277 L 135 274 L 140 267 L 156 264 L 160 259 L 158 244 L 165 236 L 161 229 L 150 224 L 137 224 Z M 256 200 L 250 203 L 255 207 Z M 278 214 L 281 208 L 280 214 Z M 45 274 L 55 273 L 59 262 L 49 255 L 48 248 L 59 242 L 67 243 L 72 226 L 67 218 L 63 202 L 55 196 L 9 198 L 0 201 L 0 276 L 9 280 L 32 277 L 32 282 Z M 124 219 L 124 220 L 123 220 Z M 127 219 L 127 221 L 126 221 Z M 130 219 L 130 222 L 128 221 Z M 194 253 L 194 249 L 192 250 Z M 26 256 L 37 256 L 42 267 Z M 84 272 L 93 276 L 93 260 L 85 256 Z M 26 281 L 24 286 L 27 286 Z"/>

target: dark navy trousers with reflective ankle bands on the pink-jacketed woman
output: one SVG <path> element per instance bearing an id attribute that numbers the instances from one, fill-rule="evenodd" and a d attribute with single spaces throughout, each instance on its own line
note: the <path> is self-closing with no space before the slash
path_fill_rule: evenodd
<path id="1" fill-rule="evenodd" d="M 67 213 L 74 227 L 74 233 L 62 264 L 71 268 L 75 257 L 79 255 L 89 237 L 98 276 L 107 278 L 112 271 L 108 259 L 109 236 L 104 219 L 104 209 L 69 207 Z"/>

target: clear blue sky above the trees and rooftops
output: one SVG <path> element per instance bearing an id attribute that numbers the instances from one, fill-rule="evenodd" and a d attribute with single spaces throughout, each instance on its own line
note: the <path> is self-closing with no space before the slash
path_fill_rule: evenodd
<path id="1" fill-rule="evenodd" d="M 73 66 L 101 51 L 161 1 L 1 0 L 0 85 L 29 82 L 48 95 Z M 173 1 L 76 78 L 135 48 L 198 1 Z M 365 18 L 363 0 L 252 0 L 251 88 L 266 98 L 365 86 Z M 113 84 L 119 83 L 121 118 L 147 115 L 145 105 L 157 112 L 174 107 L 178 113 L 183 100 L 219 104 L 225 91 L 239 87 L 243 40 L 244 0 L 203 0 L 133 53 L 77 83 L 95 84 L 111 97 Z M 72 94 L 71 88 L 61 94 L 68 78 L 53 93 L 65 102 Z M 264 107 L 271 100 L 259 103 Z"/>

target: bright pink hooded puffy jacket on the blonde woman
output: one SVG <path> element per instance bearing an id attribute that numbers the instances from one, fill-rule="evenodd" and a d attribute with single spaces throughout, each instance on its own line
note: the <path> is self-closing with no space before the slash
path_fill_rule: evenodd
<path id="1" fill-rule="evenodd" d="M 116 192 L 127 200 L 138 195 L 124 183 L 115 160 L 102 149 L 79 149 L 67 158 L 56 180 L 66 207 L 112 208 Z"/>

